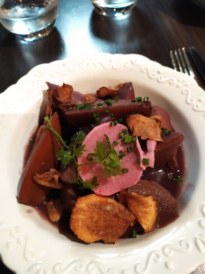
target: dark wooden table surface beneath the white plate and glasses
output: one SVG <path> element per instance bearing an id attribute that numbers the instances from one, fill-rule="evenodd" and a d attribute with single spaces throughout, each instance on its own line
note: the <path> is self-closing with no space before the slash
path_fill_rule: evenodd
<path id="1" fill-rule="evenodd" d="M 89 0 L 59 0 L 56 27 L 44 39 L 19 41 L 0 25 L 0 92 L 38 64 L 79 53 L 137 53 L 168 67 L 170 50 L 177 48 L 185 47 L 190 57 L 195 46 L 205 57 L 204 18 L 205 9 L 191 0 L 139 0 L 130 16 L 118 20 L 95 13 Z M 11 273 L 0 262 L 0 274 Z"/>

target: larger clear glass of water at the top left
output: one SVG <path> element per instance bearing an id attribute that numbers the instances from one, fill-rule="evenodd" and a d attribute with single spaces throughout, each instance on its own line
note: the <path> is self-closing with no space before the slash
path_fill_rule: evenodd
<path id="1" fill-rule="evenodd" d="M 0 0 L 0 23 L 25 41 L 47 36 L 57 14 L 58 0 Z"/>

